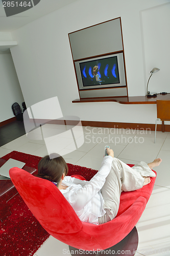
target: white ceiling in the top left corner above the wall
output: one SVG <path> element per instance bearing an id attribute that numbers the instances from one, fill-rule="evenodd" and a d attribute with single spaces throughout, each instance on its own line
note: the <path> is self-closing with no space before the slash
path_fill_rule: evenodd
<path id="1" fill-rule="evenodd" d="M 3 1 L 0 0 L 0 32 L 11 32 L 39 17 L 42 17 L 76 1 L 77 0 L 40 0 L 40 2 L 33 8 L 7 17 L 3 7 Z"/>

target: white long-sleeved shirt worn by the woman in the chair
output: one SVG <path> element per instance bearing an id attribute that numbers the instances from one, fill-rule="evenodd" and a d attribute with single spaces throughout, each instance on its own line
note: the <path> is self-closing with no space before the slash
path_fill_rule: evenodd
<path id="1" fill-rule="evenodd" d="M 62 181 L 62 185 L 68 187 L 60 189 L 61 193 L 83 222 L 99 224 L 98 218 L 106 212 L 103 209 L 104 200 L 100 190 L 111 170 L 112 161 L 111 156 L 104 157 L 100 170 L 90 181 L 79 180 L 70 176 L 65 176 Z"/>

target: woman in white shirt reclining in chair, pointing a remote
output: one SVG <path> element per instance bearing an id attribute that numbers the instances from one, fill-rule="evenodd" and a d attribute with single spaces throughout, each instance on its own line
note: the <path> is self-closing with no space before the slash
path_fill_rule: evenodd
<path id="1" fill-rule="evenodd" d="M 106 223 L 117 215 L 121 192 L 133 191 L 149 184 L 149 177 L 156 176 L 152 169 L 162 161 L 158 158 L 149 164 L 140 162 L 129 167 L 114 158 L 114 153 L 109 148 L 107 154 L 100 170 L 90 181 L 66 176 L 68 166 L 57 154 L 45 156 L 40 160 L 37 177 L 52 181 L 81 221 Z"/>

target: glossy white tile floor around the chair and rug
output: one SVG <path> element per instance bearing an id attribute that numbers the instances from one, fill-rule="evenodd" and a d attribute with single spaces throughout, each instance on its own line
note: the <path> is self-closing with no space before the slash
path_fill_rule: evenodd
<path id="1" fill-rule="evenodd" d="M 160 166 L 155 167 L 157 179 L 153 193 L 136 225 L 139 244 L 135 255 L 170 255 L 170 134 L 157 132 L 154 144 L 154 132 L 151 131 L 88 126 L 83 127 L 83 134 L 81 130 L 76 131 L 72 137 L 70 128 L 71 126 L 65 129 L 65 126 L 54 124 L 42 126 L 44 138 L 47 143 L 51 143 L 49 145 L 52 145 L 53 141 L 55 144 L 60 143 L 58 152 L 65 154 L 63 157 L 67 163 L 99 169 L 105 145 L 109 145 L 114 151 L 114 156 L 125 163 L 148 163 L 155 158 L 162 158 Z M 82 140 L 84 143 L 79 147 Z M 32 132 L 31 138 L 23 135 L 0 147 L 0 157 L 13 150 L 41 157 L 47 154 L 45 142 L 41 140 L 38 129 Z M 34 256 L 64 254 L 69 254 L 68 245 L 50 237 Z"/>

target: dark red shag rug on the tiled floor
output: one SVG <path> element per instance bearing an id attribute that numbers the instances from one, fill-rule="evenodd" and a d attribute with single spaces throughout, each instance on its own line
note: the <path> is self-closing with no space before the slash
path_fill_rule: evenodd
<path id="1" fill-rule="evenodd" d="M 41 157 L 17 151 L 13 151 L 2 158 L 5 160 L 13 158 L 36 169 L 38 169 L 38 163 L 41 160 Z M 68 163 L 68 176 L 79 174 L 86 180 L 90 180 L 96 173 L 96 170 Z M 8 206 L 11 208 L 11 216 L 0 223 L 0 255 L 34 255 L 50 234 L 41 227 L 18 194 L 8 201 Z"/>

